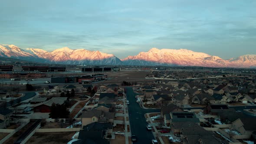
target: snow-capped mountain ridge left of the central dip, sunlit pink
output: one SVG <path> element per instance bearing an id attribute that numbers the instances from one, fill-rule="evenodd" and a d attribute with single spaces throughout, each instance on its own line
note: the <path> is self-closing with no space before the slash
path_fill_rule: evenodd
<path id="1" fill-rule="evenodd" d="M 15 50 L 13 50 L 15 48 Z M 86 49 L 69 49 L 64 47 L 47 52 L 42 49 L 20 49 L 14 45 L 0 45 L 0 56 L 33 60 L 37 62 L 51 62 L 60 64 L 87 65 L 121 65 L 121 60 L 112 54 Z M 29 58 L 29 59 L 28 59 Z"/>

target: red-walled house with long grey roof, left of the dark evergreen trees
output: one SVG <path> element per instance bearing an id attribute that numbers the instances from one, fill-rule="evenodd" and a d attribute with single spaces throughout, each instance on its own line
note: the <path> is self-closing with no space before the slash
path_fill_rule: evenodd
<path id="1" fill-rule="evenodd" d="M 62 105 L 67 101 L 67 97 L 54 97 L 48 101 L 44 101 L 41 103 L 38 103 L 33 106 L 34 112 L 42 112 L 42 113 L 49 113 L 50 107 L 54 104 Z"/>

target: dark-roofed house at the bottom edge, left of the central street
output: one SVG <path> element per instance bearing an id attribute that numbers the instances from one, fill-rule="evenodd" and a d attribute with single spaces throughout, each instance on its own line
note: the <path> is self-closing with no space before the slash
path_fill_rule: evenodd
<path id="1" fill-rule="evenodd" d="M 110 123 L 93 122 L 83 126 L 79 131 L 78 141 L 75 144 L 109 144 L 112 138 L 113 125 Z M 72 143 L 72 144 L 73 144 Z"/>

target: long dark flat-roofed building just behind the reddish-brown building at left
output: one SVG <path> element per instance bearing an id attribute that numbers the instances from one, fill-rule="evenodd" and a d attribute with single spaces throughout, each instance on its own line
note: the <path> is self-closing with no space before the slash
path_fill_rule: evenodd
<path id="1" fill-rule="evenodd" d="M 66 72 L 66 67 L 56 66 L 21 66 L 23 71 L 39 71 L 39 72 Z"/>

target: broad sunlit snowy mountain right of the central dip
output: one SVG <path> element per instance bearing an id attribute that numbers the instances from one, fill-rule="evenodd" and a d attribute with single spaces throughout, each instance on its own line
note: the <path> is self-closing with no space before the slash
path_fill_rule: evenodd
<path id="1" fill-rule="evenodd" d="M 247 55 L 246 55 L 247 56 Z M 254 55 L 253 55 L 254 56 Z M 128 56 L 122 59 L 125 65 L 183 65 L 206 67 L 250 67 L 256 66 L 253 56 L 247 56 L 246 60 L 224 60 L 218 56 L 210 56 L 202 52 L 194 52 L 187 49 L 156 49 L 148 52 L 140 52 L 137 56 Z M 244 58 L 244 57 L 243 57 Z"/>

